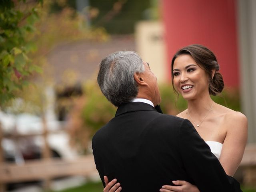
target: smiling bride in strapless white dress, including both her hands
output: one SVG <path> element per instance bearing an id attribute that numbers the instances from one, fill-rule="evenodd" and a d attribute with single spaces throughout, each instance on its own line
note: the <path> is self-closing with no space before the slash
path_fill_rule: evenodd
<path id="1" fill-rule="evenodd" d="M 174 92 L 187 100 L 188 108 L 178 117 L 190 120 L 199 135 L 229 176 L 234 176 L 244 154 L 247 141 L 247 118 L 244 114 L 215 103 L 210 95 L 222 92 L 224 82 L 216 56 L 208 48 L 194 44 L 186 46 L 172 59 Z M 122 187 L 114 179 L 104 176 L 104 192 L 120 192 Z M 186 181 L 170 181 L 160 192 L 199 192 Z"/>

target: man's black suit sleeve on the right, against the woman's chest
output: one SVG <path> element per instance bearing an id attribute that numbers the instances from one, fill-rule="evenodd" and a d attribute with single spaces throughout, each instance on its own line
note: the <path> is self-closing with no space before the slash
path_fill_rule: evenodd
<path id="1" fill-rule="evenodd" d="M 190 121 L 184 120 L 179 131 L 179 148 L 184 168 L 200 192 L 241 191 L 240 184 L 226 175 L 219 160 Z"/>

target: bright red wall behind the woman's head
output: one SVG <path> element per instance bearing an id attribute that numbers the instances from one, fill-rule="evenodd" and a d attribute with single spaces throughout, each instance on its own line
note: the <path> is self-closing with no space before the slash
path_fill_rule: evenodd
<path id="1" fill-rule="evenodd" d="M 214 52 L 225 86 L 238 87 L 236 0 L 162 0 L 168 77 L 175 52 L 202 44 Z"/>

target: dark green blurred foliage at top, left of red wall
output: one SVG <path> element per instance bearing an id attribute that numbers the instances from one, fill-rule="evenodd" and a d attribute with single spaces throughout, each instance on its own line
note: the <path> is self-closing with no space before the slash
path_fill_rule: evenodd
<path id="1" fill-rule="evenodd" d="M 98 10 L 92 18 L 94 26 L 103 26 L 111 34 L 130 34 L 136 22 L 155 15 L 152 6 L 157 5 L 152 0 L 90 0 L 90 6 Z"/>

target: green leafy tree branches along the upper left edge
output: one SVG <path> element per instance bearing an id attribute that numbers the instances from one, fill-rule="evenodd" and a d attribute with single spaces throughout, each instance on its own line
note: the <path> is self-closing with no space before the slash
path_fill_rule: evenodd
<path id="1" fill-rule="evenodd" d="M 42 0 L 40 0 L 42 4 Z M 38 3 L 26 0 L 2 0 L 0 6 L 0 104 L 14 97 L 16 90 L 27 85 L 26 77 L 33 71 L 41 72 L 28 58 L 35 51 L 34 44 L 26 38 L 36 32 Z"/>

